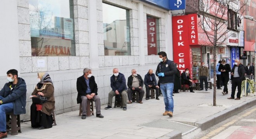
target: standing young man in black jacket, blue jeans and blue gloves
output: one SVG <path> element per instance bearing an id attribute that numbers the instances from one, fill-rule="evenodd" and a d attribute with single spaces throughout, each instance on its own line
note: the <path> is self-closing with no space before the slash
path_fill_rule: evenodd
<path id="1" fill-rule="evenodd" d="M 176 66 L 167 58 L 163 51 L 158 53 L 160 63 L 157 65 L 156 75 L 160 81 L 160 89 L 164 97 L 165 112 L 163 115 L 173 117 L 173 84 Z"/>

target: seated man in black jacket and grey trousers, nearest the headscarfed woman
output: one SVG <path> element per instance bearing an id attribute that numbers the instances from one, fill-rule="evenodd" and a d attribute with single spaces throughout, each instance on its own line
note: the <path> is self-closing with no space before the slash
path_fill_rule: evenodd
<path id="1" fill-rule="evenodd" d="M 96 107 L 96 117 L 104 118 L 100 113 L 100 97 L 98 96 L 98 86 L 95 82 L 94 76 L 92 76 L 92 69 L 85 68 L 83 70 L 83 75 L 77 78 L 76 81 L 77 89 L 77 103 L 81 103 L 82 106 L 82 119 L 86 119 L 86 108 L 87 101 L 93 100 Z"/>

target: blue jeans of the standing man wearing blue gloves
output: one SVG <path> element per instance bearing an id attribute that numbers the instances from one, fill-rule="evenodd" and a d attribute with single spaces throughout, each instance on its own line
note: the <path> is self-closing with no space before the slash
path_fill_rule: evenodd
<path id="1" fill-rule="evenodd" d="M 173 112 L 173 83 L 160 84 L 164 97 L 165 111 Z"/>

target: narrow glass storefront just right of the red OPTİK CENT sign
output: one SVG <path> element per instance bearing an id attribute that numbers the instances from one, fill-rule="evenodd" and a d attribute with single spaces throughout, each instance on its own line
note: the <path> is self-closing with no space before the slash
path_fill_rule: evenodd
<path id="1" fill-rule="evenodd" d="M 201 66 L 201 48 L 192 48 L 192 80 L 199 82 L 198 70 Z"/>

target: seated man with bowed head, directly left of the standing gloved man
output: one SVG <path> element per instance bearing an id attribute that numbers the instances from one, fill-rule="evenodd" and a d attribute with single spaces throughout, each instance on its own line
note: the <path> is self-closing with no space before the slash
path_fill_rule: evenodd
<path id="1" fill-rule="evenodd" d="M 159 100 L 159 86 L 157 86 L 156 76 L 152 69 L 150 69 L 149 72 L 145 75 L 144 85 L 146 87 L 146 100 L 149 100 L 150 88 L 156 89 L 156 99 Z"/>

